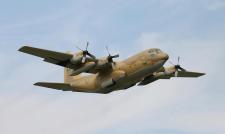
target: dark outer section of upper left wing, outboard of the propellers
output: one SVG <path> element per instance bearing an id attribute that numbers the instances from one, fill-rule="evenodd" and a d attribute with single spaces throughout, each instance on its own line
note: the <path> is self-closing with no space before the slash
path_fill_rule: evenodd
<path id="1" fill-rule="evenodd" d="M 70 62 L 70 59 L 73 57 L 72 54 L 55 52 L 51 50 L 44 50 L 29 46 L 23 46 L 19 49 L 19 51 L 44 58 L 44 61 L 52 64 L 60 65 L 71 69 L 74 69 L 76 67 Z"/>

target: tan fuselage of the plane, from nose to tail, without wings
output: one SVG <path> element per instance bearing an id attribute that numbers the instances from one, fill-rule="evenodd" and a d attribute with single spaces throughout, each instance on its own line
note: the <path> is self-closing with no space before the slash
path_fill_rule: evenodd
<path id="1" fill-rule="evenodd" d="M 110 72 L 81 77 L 71 86 L 86 92 L 108 93 L 136 85 L 163 67 L 168 55 L 159 49 L 148 49 L 124 61 L 116 62 Z"/>

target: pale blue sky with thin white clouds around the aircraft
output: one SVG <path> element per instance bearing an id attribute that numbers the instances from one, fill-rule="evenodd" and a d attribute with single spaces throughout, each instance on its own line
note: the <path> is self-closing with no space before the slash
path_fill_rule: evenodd
<path id="1" fill-rule="evenodd" d="M 1 134 L 224 134 L 225 0 L 0 0 Z M 160 48 L 198 79 L 156 81 L 108 95 L 35 87 L 63 68 L 24 44 L 120 60 Z M 166 66 L 170 64 L 166 63 Z"/>

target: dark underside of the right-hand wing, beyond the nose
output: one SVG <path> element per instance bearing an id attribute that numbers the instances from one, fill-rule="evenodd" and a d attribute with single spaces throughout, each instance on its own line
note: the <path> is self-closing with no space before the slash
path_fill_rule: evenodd
<path id="1" fill-rule="evenodd" d="M 200 76 L 205 75 L 205 73 L 199 73 L 199 72 L 190 72 L 190 71 L 179 71 L 177 77 L 182 77 L 182 78 L 197 78 Z M 152 83 L 156 80 L 159 79 L 170 79 L 172 77 L 175 77 L 175 74 L 170 74 L 170 75 L 162 75 L 162 76 L 154 76 L 150 75 L 146 77 L 144 80 L 142 80 L 138 85 L 147 85 L 149 83 Z"/>

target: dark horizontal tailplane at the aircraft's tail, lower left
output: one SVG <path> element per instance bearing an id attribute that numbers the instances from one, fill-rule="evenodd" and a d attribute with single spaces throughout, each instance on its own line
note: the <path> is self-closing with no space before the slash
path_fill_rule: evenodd
<path id="1" fill-rule="evenodd" d="M 82 92 L 82 91 L 74 89 L 73 87 L 70 86 L 70 84 L 67 84 L 67 83 L 38 82 L 38 83 L 35 83 L 34 85 L 40 86 L 40 87 L 52 88 L 56 90 L 62 90 L 62 91 Z"/>

